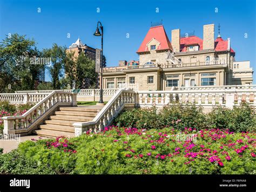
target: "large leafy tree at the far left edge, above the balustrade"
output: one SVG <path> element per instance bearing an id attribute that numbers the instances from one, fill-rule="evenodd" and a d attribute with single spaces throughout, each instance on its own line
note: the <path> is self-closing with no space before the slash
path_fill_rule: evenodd
<path id="1" fill-rule="evenodd" d="M 37 71 L 42 65 L 31 63 L 31 58 L 39 57 L 35 40 L 17 33 L 6 36 L 0 43 L 0 92 L 33 89 Z M 8 87 L 8 85 L 11 85 Z"/>

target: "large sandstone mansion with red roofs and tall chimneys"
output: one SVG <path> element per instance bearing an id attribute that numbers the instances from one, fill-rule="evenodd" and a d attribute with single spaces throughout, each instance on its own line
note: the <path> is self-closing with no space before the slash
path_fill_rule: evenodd
<path id="1" fill-rule="evenodd" d="M 203 39 L 152 26 L 140 45 L 139 61 L 119 61 L 103 68 L 103 88 L 131 87 L 168 91 L 177 86 L 250 85 L 250 61 L 235 61 L 230 38 L 214 38 L 214 24 L 204 25 Z"/>

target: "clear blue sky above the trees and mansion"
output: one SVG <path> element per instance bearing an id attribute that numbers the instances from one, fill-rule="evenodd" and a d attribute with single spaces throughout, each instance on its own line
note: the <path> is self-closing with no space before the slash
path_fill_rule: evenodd
<path id="1" fill-rule="evenodd" d="M 215 8 L 218 8 L 217 13 Z M 136 51 L 151 22 L 161 19 L 170 39 L 172 29 L 180 29 L 181 33 L 195 31 L 195 35 L 203 38 L 203 25 L 211 23 L 215 24 L 217 37 L 220 23 L 221 37 L 231 38 L 235 59 L 250 60 L 255 70 L 254 0 L 1 0 L 0 38 L 8 33 L 19 33 L 34 38 L 38 48 L 43 49 L 51 47 L 52 43 L 69 46 L 80 36 L 83 43 L 99 48 L 100 38 L 92 34 L 100 20 L 104 26 L 107 66 L 116 66 L 118 60 L 138 60 Z M 126 38 L 126 33 L 129 33 L 129 38 Z"/>

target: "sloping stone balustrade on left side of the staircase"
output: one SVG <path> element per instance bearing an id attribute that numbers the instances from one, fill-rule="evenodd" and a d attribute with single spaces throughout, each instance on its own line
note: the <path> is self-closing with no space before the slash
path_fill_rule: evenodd
<path id="1" fill-rule="evenodd" d="M 4 116 L 4 134 L 30 134 L 59 106 L 76 106 L 77 94 L 54 91 L 21 116 Z"/>

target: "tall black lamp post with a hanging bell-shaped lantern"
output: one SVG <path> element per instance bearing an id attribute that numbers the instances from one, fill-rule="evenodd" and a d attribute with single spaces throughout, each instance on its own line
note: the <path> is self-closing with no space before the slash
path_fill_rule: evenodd
<path id="1" fill-rule="evenodd" d="M 99 26 L 100 24 L 100 26 Z M 100 33 L 99 29 L 102 31 Z M 98 22 L 97 28 L 95 33 L 93 34 L 95 36 L 102 36 L 102 53 L 100 57 L 100 90 L 99 90 L 99 103 L 103 104 L 103 89 L 102 89 L 102 84 L 103 84 L 103 78 L 102 78 L 102 73 L 103 73 L 103 26 L 102 23 Z"/>

